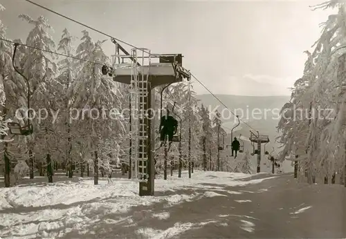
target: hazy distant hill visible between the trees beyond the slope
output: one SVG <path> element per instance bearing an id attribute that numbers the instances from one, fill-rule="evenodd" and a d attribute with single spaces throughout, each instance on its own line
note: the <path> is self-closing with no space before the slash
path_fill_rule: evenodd
<path id="1" fill-rule="evenodd" d="M 268 135 L 271 142 L 266 144 L 266 151 L 273 151 L 273 155 L 277 155 L 277 152 L 280 144 L 275 143 L 275 137 L 277 137 L 277 123 L 279 122 L 279 113 L 286 102 L 289 102 L 291 98 L 289 95 L 283 96 L 243 96 L 243 95 L 216 95 L 221 102 L 223 102 L 228 108 L 233 112 L 239 115 L 239 118 L 246 122 L 252 128 L 249 128 L 244 123 L 241 122 L 237 128 L 233 131 L 233 137 L 239 137 L 239 134 L 242 134 L 246 137 L 250 136 L 250 131 L 260 131 L 261 135 Z M 226 144 L 230 144 L 230 129 L 237 125 L 237 120 L 235 117 L 228 111 L 226 108 L 217 100 L 214 96 L 206 95 L 197 95 L 197 99 L 200 100 L 200 104 L 210 109 L 210 111 L 217 110 L 221 115 L 223 124 L 226 132 L 228 133 L 226 137 Z M 254 129 L 253 129 L 254 128 Z M 255 145 L 257 149 L 257 145 Z M 226 149 L 226 154 L 230 154 L 230 149 Z M 253 151 L 253 146 L 249 142 L 244 142 L 244 151 Z M 257 156 L 253 156 L 253 169 L 255 169 Z M 262 146 L 262 159 L 266 159 L 267 155 L 264 155 L 264 146 Z M 270 171 L 268 168 L 267 160 L 262 160 L 262 171 Z M 284 163 L 284 171 L 292 171 L 291 162 Z"/>

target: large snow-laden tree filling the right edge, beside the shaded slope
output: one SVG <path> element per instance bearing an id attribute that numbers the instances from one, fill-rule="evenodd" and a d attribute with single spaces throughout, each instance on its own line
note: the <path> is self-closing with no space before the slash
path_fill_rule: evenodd
<path id="1" fill-rule="evenodd" d="M 336 8 L 338 12 L 322 24 L 315 49 L 307 52 L 303 76 L 293 86 L 291 102 L 284 106 L 289 120 L 279 123 L 284 144 L 280 160 L 298 155 L 293 160 L 299 161 L 309 183 L 315 178 L 328 181 L 336 172 L 342 174 L 345 164 L 345 3 L 328 1 L 318 8 Z M 305 111 L 304 115 L 294 120 L 293 113 L 298 110 Z"/>

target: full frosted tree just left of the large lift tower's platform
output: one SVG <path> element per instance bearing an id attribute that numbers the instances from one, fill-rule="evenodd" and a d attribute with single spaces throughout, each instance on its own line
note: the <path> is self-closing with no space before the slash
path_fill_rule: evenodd
<path id="1" fill-rule="evenodd" d="M 98 169 L 111 164 L 110 153 L 118 155 L 118 140 L 126 129 L 122 124 L 120 112 L 120 97 L 115 84 L 109 77 L 102 75 L 99 65 L 93 62 L 107 62 L 102 43 L 93 44 L 86 31 L 83 32 L 82 43 L 77 48 L 77 55 L 88 61 L 82 62 L 75 81 L 72 82 L 69 97 L 73 108 L 82 114 L 73 122 L 78 128 L 80 139 L 89 153 L 94 157 L 95 184 L 98 184 Z M 87 46 L 89 48 L 84 48 Z M 85 52 L 89 52 L 86 54 Z M 84 110 L 84 113 L 83 113 Z M 105 115 L 103 114 L 106 111 Z M 85 113 L 86 112 L 86 113 Z M 84 134 L 82 134 L 84 132 Z M 109 140 L 104 144 L 104 140 Z M 112 159 L 117 161 L 117 159 Z"/>

